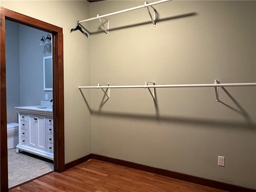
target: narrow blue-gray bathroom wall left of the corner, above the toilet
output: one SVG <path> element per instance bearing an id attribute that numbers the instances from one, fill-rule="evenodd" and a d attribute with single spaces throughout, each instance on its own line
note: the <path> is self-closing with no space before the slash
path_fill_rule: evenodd
<path id="1" fill-rule="evenodd" d="M 20 48 L 19 25 L 6 22 L 6 106 L 7 123 L 18 122 L 17 111 L 20 106 Z"/>

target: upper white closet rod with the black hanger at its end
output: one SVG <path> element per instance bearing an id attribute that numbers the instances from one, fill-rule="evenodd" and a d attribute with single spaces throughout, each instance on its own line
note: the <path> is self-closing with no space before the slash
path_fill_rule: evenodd
<path id="1" fill-rule="evenodd" d="M 79 21 L 78 24 L 83 23 L 83 22 L 87 22 L 87 21 L 91 21 L 91 20 L 95 20 L 95 19 L 99 19 L 99 18 L 103 18 L 103 17 L 107 17 L 107 16 L 111 16 L 111 15 L 116 15 L 116 14 L 120 14 L 120 13 L 124 13 L 124 12 L 128 12 L 128 11 L 140 9 L 140 8 L 146 8 L 148 6 L 164 3 L 164 2 L 167 2 L 167 1 L 171 1 L 171 0 L 160 0 L 160 1 L 153 2 L 153 3 L 145 2 L 144 5 L 140 5 L 140 6 L 129 8 L 129 9 L 125 9 L 125 10 L 120 10 L 120 11 L 117 11 L 117 12 L 113 12 L 113 13 L 109 13 L 109 14 L 105 14 L 105 15 L 101 15 L 101 16 L 98 15 L 98 16 L 96 16 L 94 18 L 82 20 L 82 21 Z"/>

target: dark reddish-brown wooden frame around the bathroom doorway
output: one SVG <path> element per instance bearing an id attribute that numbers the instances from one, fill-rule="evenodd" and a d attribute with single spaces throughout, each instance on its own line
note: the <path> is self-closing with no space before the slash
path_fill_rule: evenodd
<path id="1" fill-rule="evenodd" d="M 54 171 L 62 172 L 65 170 L 62 28 L 0 7 L 0 191 L 8 191 L 5 20 L 52 34 Z"/>

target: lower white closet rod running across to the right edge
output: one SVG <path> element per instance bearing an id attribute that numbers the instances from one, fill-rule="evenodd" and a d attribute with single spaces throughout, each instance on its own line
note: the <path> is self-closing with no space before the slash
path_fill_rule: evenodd
<path id="1" fill-rule="evenodd" d="M 126 86 L 79 86 L 79 89 L 102 88 L 168 88 L 168 87 L 241 87 L 256 86 L 256 83 L 217 83 L 217 84 L 180 84 L 180 85 L 126 85 Z"/>

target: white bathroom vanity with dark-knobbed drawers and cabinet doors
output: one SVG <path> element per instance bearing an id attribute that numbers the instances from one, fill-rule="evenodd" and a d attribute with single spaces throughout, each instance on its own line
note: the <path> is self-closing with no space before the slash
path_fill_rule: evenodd
<path id="1" fill-rule="evenodd" d="M 53 112 L 51 106 L 15 107 L 18 112 L 20 150 L 53 160 Z"/>

